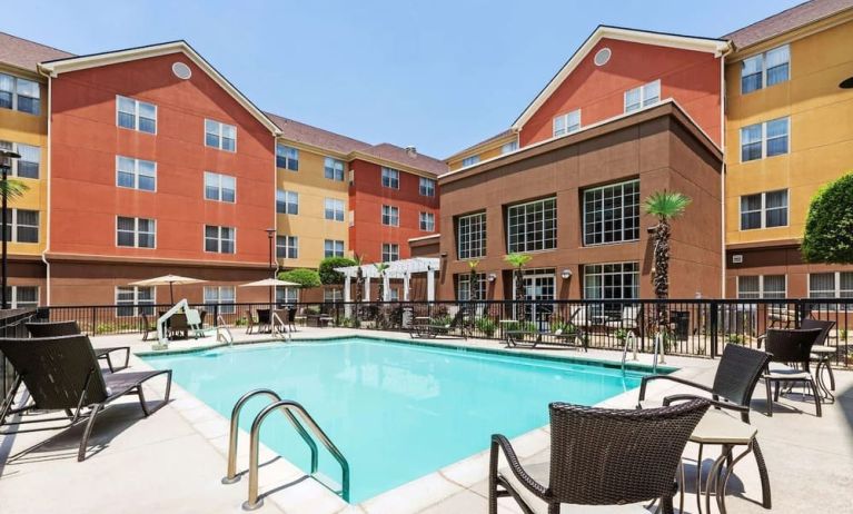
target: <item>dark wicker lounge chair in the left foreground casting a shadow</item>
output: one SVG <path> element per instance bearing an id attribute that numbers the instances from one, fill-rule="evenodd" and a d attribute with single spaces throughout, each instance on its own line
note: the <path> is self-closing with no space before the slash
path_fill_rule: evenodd
<path id="1" fill-rule="evenodd" d="M 0 406 L 0 426 L 68 422 L 67 425 L 61 426 L 22 428 L 3 432 L 0 435 L 68 428 L 86 419 L 86 429 L 77 453 L 78 462 L 86 458 L 86 447 L 95 426 L 95 418 L 110 402 L 123 395 L 137 395 L 146 417 L 169 402 L 171 369 L 105 375 L 98 366 L 89 337 L 81 334 L 31 339 L 0 338 L 0 353 L 9 359 L 17 372 L 12 387 Z M 166 375 L 166 394 L 162 402 L 149 408 L 142 392 L 142 383 L 160 375 Z M 12 408 L 21 384 L 27 387 L 31 402 L 21 408 Z M 86 407 L 91 408 L 83 412 Z M 7 417 L 29 409 L 65 411 L 66 417 L 7 422 Z"/>

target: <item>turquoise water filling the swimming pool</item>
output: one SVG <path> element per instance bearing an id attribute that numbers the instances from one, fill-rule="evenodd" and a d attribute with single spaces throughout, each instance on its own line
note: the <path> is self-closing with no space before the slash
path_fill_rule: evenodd
<path id="1" fill-rule="evenodd" d="M 349 462 L 350 503 L 484 451 L 494 433 L 515 437 L 546 425 L 551 402 L 593 405 L 638 387 L 642 377 L 618 367 L 355 337 L 145 359 L 173 369 L 181 387 L 226 417 L 260 387 L 302 404 Z M 244 428 L 265 403 L 246 406 Z M 265 423 L 261 441 L 308 469 L 310 454 L 284 416 Z M 337 463 L 318 446 L 320 472 L 339 481 Z"/>

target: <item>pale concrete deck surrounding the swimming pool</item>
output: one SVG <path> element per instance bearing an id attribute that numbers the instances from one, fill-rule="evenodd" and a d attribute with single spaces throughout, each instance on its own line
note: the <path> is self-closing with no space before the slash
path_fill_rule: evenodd
<path id="1" fill-rule="evenodd" d="M 345 328 L 300 328 L 297 338 L 327 338 L 351 335 L 411 342 L 406 334 L 354 330 Z M 235 332 L 237 343 L 264 339 Z M 430 343 L 430 342 L 426 342 Z M 436 343 L 473 348 L 503 349 L 495 340 L 438 339 Z M 137 335 L 99 336 L 95 346 L 130 345 L 133 352 L 150 350 Z M 173 343 L 170 349 L 197 347 L 196 342 Z M 508 349 L 510 353 L 582 357 L 618 362 L 621 353 L 574 349 Z M 651 364 L 649 355 L 639 363 Z M 716 360 L 667 357 L 685 378 L 710 384 Z M 131 357 L 133 369 L 148 366 Z M 824 405 L 823 417 L 813 415 L 814 404 L 801 402 L 799 395 L 782 398 L 774 416 L 763 415 L 764 387 L 756 389 L 753 424 L 770 469 L 774 512 L 853 512 L 849 491 L 853 486 L 853 372 L 836 372 L 836 397 Z M 161 384 L 149 394 L 157 398 Z M 686 391 L 678 385 L 657 383 L 649 387 L 651 398 Z M 636 391 L 613 397 L 602 406 L 632 408 Z M 298 398 L 294 398 L 298 399 Z M 546 408 L 546 406 L 543 406 Z M 508 414 L 512 414 L 510 412 Z M 40 432 L 0 438 L 0 512 L 23 513 L 238 513 L 246 500 L 247 480 L 222 485 L 226 468 L 227 421 L 181 387 L 172 387 L 171 402 L 149 418 L 142 418 L 136 399 L 128 398 L 110 407 L 98 418 L 88 458 L 76 459 L 80 426 L 67 432 Z M 28 454 L 16 457 L 23 448 L 44 442 Z M 523 461 L 537 461 L 548 455 L 548 427 L 532 431 L 513 439 Z M 485 446 L 484 442 L 484 446 Z M 238 469 L 248 459 L 248 436 L 242 433 L 238 452 Z M 688 484 L 695 473 L 696 448 L 687 447 Z M 706 456 L 715 456 L 713 448 Z M 11 456 L 11 458 L 10 458 Z M 486 452 L 439 469 L 414 482 L 370 498 L 359 505 L 347 505 L 302 472 L 261 451 L 260 488 L 265 505 L 257 512 L 282 513 L 485 513 L 487 512 Z M 710 458 L 703 467 L 707 468 Z M 688 485 L 688 490 L 691 490 Z M 754 459 L 738 463 L 728 485 L 726 506 L 734 513 L 767 512 L 760 501 Z M 629 510 L 631 511 L 631 510 Z M 499 512 L 519 513 L 509 500 L 499 502 Z M 612 512 L 609 508 L 573 508 L 572 512 Z M 621 511 L 618 511 L 621 512 Z M 642 511 L 641 511 L 642 512 Z M 696 497 L 688 491 L 685 512 L 696 512 Z M 704 507 L 703 507 L 704 512 Z M 712 512 L 716 512 L 715 510 Z"/>

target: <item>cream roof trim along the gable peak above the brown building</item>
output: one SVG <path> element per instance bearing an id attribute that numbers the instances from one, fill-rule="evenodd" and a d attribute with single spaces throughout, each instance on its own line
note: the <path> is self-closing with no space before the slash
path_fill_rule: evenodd
<path id="1" fill-rule="evenodd" d="M 728 41 L 715 38 L 701 38 L 695 36 L 681 36 L 666 32 L 653 32 L 648 30 L 625 29 L 622 27 L 598 26 L 581 48 L 563 65 L 563 68 L 539 91 L 536 98 L 525 108 L 524 112 L 515 120 L 513 130 L 520 130 L 524 123 L 542 107 L 543 103 L 557 90 L 566 78 L 577 68 L 581 61 L 598 43 L 602 38 L 618 39 L 658 47 L 681 48 L 685 50 L 705 51 L 722 55 L 730 48 Z"/>

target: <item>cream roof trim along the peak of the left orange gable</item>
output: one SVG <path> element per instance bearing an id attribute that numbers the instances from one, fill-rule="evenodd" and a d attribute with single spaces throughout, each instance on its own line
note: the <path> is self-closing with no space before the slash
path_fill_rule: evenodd
<path id="1" fill-rule="evenodd" d="M 117 65 L 120 62 L 148 59 L 151 57 L 168 56 L 169 53 L 184 53 L 196 66 L 201 68 L 215 82 L 225 89 L 231 98 L 251 113 L 270 132 L 278 135 L 279 130 L 276 123 L 258 109 L 239 89 L 228 81 L 216 68 L 205 60 L 187 41 L 169 41 L 146 47 L 128 48 L 125 50 L 115 50 L 101 53 L 90 53 L 88 56 L 62 57 L 42 61 L 38 65 L 39 71 L 50 77 L 57 77 L 69 71 L 97 68 L 101 66 Z"/>

